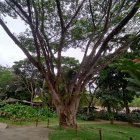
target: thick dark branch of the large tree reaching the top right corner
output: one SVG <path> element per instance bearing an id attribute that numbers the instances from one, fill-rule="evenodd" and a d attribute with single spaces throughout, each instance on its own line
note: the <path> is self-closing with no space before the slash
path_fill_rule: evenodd
<path id="1" fill-rule="evenodd" d="M 129 22 L 129 20 L 135 15 L 135 13 L 138 11 L 140 0 L 137 0 L 137 2 L 134 4 L 133 8 L 131 9 L 131 11 L 127 14 L 127 16 L 112 30 L 112 32 L 106 37 L 106 39 L 103 41 L 100 49 L 98 50 L 97 54 L 94 56 L 93 52 L 91 52 L 90 56 L 87 58 L 87 60 L 84 62 L 83 64 L 83 68 L 81 68 L 81 74 L 79 75 L 79 84 L 85 82 L 84 79 L 86 79 L 85 77 L 87 77 L 87 73 L 89 75 L 89 77 L 92 76 L 92 71 L 93 68 L 95 68 L 95 65 L 98 62 L 98 59 L 100 58 L 101 54 L 103 51 L 106 50 L 107 44 L 108 42 L 116 35 L 118 34 L 121 29 Z M 93 57 L 93 58 L 92 58 Z M 92 58 L 92 60 L 91 60 Z M 85 70 L 86 67 L 86 70 Z M 82 70 L 83 69 L 83 70 Z"/>

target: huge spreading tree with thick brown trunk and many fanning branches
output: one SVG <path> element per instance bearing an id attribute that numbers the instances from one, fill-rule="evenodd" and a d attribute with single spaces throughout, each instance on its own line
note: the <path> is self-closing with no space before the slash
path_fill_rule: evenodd
<path id="1" fill-rule="evenodd" d="M 0 1 L 0 25 L 42 73 L 60 125 L 76 125 L 76 112 L 85 85 L 139 37 L 134 28 L 138 26 L 139 5 L 140 0 Z M 26 31 L 19 35 L 13 33 L 6 24 L 8 16 L 15 22 L 21 19 L 27 26 Z M 127 41 L 120 41 L 120 37 L 133 32 L 135 35 Z M 72 76 L 67 78 L 62 52 L 78 47 L 83 59 L 80 67 L 68 72 Z M 104 55 L 108 57 L 100 61 Z"/>

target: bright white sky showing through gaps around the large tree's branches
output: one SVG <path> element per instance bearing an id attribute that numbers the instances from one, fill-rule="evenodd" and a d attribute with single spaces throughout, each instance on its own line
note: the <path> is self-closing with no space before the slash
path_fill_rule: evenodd
<path id="1" fill-rule="evenodd" d="M 25 25 L 20 20 L 13 20 L 8 18 L 7 25 L 12 33 L 20 33 L 25 30 Z M 75 57 L 78 60 L 82 60 L 82 53 L 80 49 L 70 49 L 63 53 L 64 56 Z M 23 60 L 26 58 L 24 53 L 18 48 L 18 46 L 12 41 L 12 39 L 5 33 L 0 26 L 0 65 L 11 67 L 15 61 Z"/>

